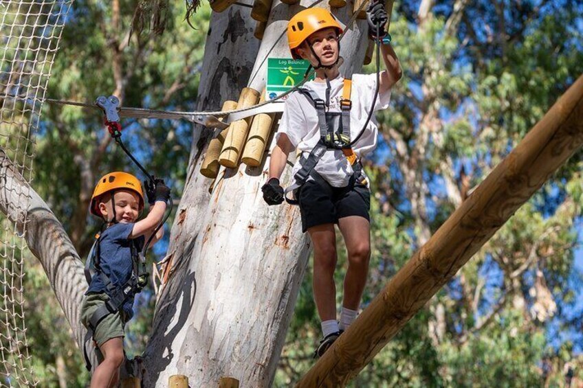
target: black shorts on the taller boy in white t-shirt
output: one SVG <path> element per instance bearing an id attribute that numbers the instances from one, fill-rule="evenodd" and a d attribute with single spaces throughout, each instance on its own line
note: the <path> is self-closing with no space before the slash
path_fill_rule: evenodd
<path id="1" fill-rule="evenodd" d="M 338 224 L 338 219 L 360 216 L 370 221 L 371 192 L 365 185 L 351 179 L 346 187 L 333 187 L 324 179 L 310 179 L 300 188 L 298 196 L 302 231 L 325 224 Z"/>

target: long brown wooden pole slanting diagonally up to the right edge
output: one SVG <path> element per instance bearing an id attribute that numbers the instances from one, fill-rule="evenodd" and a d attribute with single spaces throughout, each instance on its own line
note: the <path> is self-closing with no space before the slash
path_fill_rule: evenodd
<path id="1" fill-rule="evenodd" d="M 346 385 L 581 146 L 583 76 L 388 282 L 298 387 Z"/>

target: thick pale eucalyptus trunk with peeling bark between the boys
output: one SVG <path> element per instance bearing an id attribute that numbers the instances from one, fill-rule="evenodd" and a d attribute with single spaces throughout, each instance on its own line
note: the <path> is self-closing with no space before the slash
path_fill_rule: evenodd
<path id="1" fill-rule="evenodd" d="M 198 109 L 237 100 L 245 86 L 261 91 L 267 56 L 289 58 L 285 27 L 296 12 L 274 1 L 259 51 L 248 9 L 213 14 Z M 338 17 L 347 23 L 348 8 Z M 349 73 L 362 65 L 361 38 L 366 34 L 355 27 L 342 41 Z M 222 376 L 242 387 L 270 386 L 307 264 L 309 239 L 301 233 L 298 207 L 263 202 L 268 161 L 259 168 L 221 168 L 212 183 L 199 173 L 208 141 L 208 133 L 195 128 L 168 248 L 171 275 L 141 368 L 145 387 L 162 386 L 176 373 L 186 374 L 192 387 L 217 386 Z"/>

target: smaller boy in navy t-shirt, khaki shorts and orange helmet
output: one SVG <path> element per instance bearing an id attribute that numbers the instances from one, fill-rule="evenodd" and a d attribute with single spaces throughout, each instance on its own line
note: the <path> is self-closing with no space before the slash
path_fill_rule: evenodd
<path id="1" fill-rule="evenodd" d="M 104 357 L 91 377 L 91 388 L 118 385 L 119 370 L 124 361 L 124 325 L 133 316 L 135 293 L 130 291 L 115 312 L 111 311 L 111 305 L 109 310 L 103 307 L 113 300 L 115 293 L 143 280 L 135 278 L 137 252 L 142 251 L 147 239 L 152 237 L 151 244 L 154 244 L 164 234 L 161 227 L 152 236 L 164 217 L 170 189 L 164 183 L 146 188 L 150 212 L 140 221 L 137 218 L 144 209 L 144 194 L 140 181 L 131 174 L 106 174 L 98 181 L 91 197 L 91 214 L 107 224 L 96 244 L 96 273 L 91 278 L 81 308 L 81 321 L 86 328 L 93 330 L 94 341 Z M 107 315 L 97 319 L 98 310 Z"/>

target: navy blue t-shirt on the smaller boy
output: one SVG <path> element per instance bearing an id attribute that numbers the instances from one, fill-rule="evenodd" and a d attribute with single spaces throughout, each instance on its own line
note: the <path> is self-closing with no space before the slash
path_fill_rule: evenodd
<path id="1" fill-rule="evenodd" d="M 133 225 L 135 224 L 114 224 L 101 233 L 99 242 L 100 257 L 96 258 L 96 260 L 98 260 L 100 268 L 109 277 L 113 286 L 123 286 L 131 277 L 133 271 L 131 244 L 135 244 L 137 251 L 141 251 L 144 246 L 144 236 L 135 239 L 128 238 Z M 91 278 L 91 284 L 89 284 L 89 289 L 85 295 L 103 292 L 109 295 L 100 275 L 96 273 Z M 133 297 L 128 299 L 123 306 L 127 319 L 133 316 L 132 306 Z"/>

